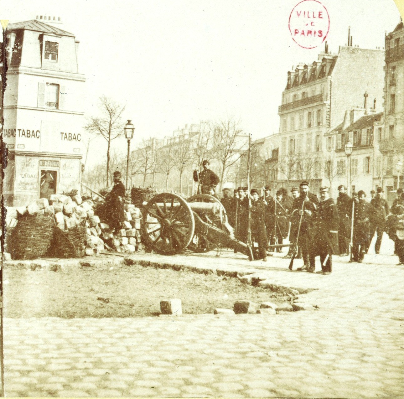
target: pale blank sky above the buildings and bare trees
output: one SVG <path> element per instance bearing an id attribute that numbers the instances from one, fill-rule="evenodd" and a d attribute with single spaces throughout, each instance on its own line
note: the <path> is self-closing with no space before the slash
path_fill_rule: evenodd
<path id="1" fill-rule="evenodd" d="M 97 114 L 101 95 L 125 105 L 142 139 L 172 135 L 201 120 L 240 120 L 253 139 L 278 131 L 278 106 L 287 71 L 313 63 L 324 44 L 299 47 L 288 29 L 299 0 L 13 0 L 0 19 L 10 23 L 36 15 L 61 17 L 75 34 L 79 72 L 86 76 L 83 111 Z M 400 22 L 393 0 L 321 0 L 330 17 L 330 52 L 347 43 L 384 47 L 385 31 Z M 116 148 L 126 150 L 117 139 Z M 89 162 L 98 162 L 93 141 Z M 105 147 L 106 148 L 106 147 Z"/>

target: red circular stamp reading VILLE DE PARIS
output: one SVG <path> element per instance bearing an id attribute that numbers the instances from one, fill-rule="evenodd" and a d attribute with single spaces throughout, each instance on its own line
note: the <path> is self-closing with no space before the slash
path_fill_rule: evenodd
<path id="1" fill-rule="evenodd" d="M 324 42 L 330 29 L 327 9 L 317 0 L 296 4 L 289 16 L 292 39 L 303 48 L 314 48 Z"/>

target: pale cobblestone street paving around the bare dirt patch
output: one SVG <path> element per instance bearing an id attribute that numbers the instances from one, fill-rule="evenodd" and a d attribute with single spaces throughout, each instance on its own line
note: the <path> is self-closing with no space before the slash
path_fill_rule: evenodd
<path id="1" fill-rule="evenodd" d="M 318 288 L 299 295 L 314 311 L 5 318 L 5 396 L 402 397 L 404 268 L 385 241 L 362 264 L 336 256 L 328 276 L 288 272 L 277 256 L 266 264 L 234 256 L 241 274 Z M 230 268 L 233 254 L 142 256 L 214 269 Z"/>

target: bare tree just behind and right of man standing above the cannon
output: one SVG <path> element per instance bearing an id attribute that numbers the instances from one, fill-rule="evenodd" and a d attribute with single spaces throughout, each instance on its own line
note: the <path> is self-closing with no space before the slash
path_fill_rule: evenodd
<path id="1" fill-rule="evenodd" d="M 221 189 L 223 188 L 226 172 L 245 152 L 248 135 L 243 133 L 239 125 L 240 121 L 236 122 L 230 118 L 217 123 L 214 127 L 212 155 L 221 164 Z"/>

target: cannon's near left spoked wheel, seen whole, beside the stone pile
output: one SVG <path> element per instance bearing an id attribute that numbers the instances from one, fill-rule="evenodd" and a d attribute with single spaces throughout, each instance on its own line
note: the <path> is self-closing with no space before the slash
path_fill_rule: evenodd
<path id="1" fill-rule="evenodd" d="M 142 236 L 159 254 L 178 254 L 194 237 L 195 220 L 189 204 L 179 195 L 162 193 L 143 210 Z"/>

